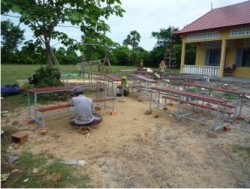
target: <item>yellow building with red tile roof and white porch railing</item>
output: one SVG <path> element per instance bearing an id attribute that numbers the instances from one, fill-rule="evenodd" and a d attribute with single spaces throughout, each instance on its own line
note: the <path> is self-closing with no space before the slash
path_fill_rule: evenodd
<path id="1" fill-rule="evenodd" d="M 250 0 L 212 9 L 182 30 L 181 73 L 250 78 Z M 185 65 L 189 44 L 196 60 Z"/>

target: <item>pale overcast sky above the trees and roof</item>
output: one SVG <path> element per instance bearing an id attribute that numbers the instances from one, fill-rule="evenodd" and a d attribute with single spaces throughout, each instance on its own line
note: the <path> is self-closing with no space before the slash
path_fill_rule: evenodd
<path id="1" fill-rule="evenodd" d="M 126 10 L 123 17 L 111 16 L 107 23 L 110 32 L 107 34 L 113 41 L 122 44 L 123 40 L 132 31 L 141 35 L 139 46 L 145 50 L 152 50 L 156 39 L 151 37 L 152 32 L 174 26 L 182 29 L 202 15 L 213 9 L 245 2 L 247 0 L 121 0 L 122 8 Z M 2 16 L 2 20 L 18 19 Z M 17 22 L 15 22 L 17 24 Z M 26 40 L 32 39 L 32 32 L 25 28 Z M 57 28 L 66 32 L 70 37 L 80 40 L 81 32 L 77 28 Z M 54 42 L 51 45 L 56 44 Z M 59 44 L 58 44 L 59 45 Z M 56 45 L 56 46 L 58 46 Z"/>

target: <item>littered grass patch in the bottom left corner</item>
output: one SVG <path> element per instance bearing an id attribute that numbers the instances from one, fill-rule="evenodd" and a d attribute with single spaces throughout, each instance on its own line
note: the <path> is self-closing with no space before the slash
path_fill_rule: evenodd
<path id="1" fill-rule="evenodd" d="M 45 154 L 34 155 L 22 152 L 19 159 L 12 164 L 2 164 L 2 173 L 12 173 L 7 181 L 2 182 L 5 188 L 86 188 L 89 178 L 86 175 L 76 174 L 76 168 L 65 165 L 59 160 L 48 164 L 49 156 Z M 33 171 L 37 169 L 37 172 Z M 60 177 L 56 179 L 56 177 Z M 24 182 L 26 181 L 26 182 Z"/>

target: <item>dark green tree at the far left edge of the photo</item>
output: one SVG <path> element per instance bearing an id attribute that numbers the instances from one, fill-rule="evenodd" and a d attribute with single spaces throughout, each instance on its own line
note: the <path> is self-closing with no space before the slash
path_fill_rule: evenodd
<path id="1" fill-rule="evenodd" d="M 14 26 L 10 20 L 1 21 L 1 36 L 2 36 L 2 61 L 11 61 L 13 54 L 18 51 L 18 46 L 24 40 L 24 30 L 18 26 Z"/>

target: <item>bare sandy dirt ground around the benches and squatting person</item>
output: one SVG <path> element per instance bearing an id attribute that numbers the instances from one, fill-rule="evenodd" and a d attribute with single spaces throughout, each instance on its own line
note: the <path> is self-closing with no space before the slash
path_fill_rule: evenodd
<path id="1" fill-rule="evenodd" d="M 136 95 L 117 100 L 118 114 L 100 110 L 104 120 L 88 138 L 68 124 L 72 114 L 47 118 L 47 135 L 40 134 L 37 124 L 27 124 L 27 109 L 16 110 L 12 121 L 3 118 L 2 125 L 17 121 L 18 129 L 28 134 L 26 144 L 13 144 L 13 154 L 29 150 L 62 160 L 85 160 L 84 166 L 75 167 L 90 176 L 95 188 L 250 187 L 250 156 L 233 150 L 234 145 L 250 147 L 246 120 L 214 135 L 209 126 L 177 120 L 169 111 L 145 115 L 148 108 L 149 101 L 140 102 Z M 249 100 L 243 115 L 250 118 Z"/>

